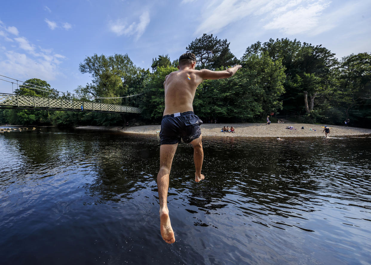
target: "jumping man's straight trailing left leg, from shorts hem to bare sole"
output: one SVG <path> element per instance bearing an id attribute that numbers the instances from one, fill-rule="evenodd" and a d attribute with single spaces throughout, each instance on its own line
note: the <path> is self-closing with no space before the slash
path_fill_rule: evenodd
<path id="1" fill-rule="evenodd" d="M 160 230 L 166 243 L 174 243 L 174 231 L 171 228 L 169 210 L 167 209 L 167 190 L 171 164 L 178 144 L 162 144 L 160 146 L 160 170 L 157 174 L 158 199 L 160 200 Z"/>

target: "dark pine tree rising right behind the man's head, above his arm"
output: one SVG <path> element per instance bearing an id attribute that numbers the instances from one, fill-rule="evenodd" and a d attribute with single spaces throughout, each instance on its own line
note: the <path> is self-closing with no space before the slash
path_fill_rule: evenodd
<path id="1" fill-rule="evenodd" d="M 185 49 L 196 55 L 197 69 L 214 70 L 220 66 L 232 66 L 239 62 L 230 51 L 227 39 L 218 39 L 213 37 L 213 34 L 204 33 L 202 37 L 196 38 Z"/>

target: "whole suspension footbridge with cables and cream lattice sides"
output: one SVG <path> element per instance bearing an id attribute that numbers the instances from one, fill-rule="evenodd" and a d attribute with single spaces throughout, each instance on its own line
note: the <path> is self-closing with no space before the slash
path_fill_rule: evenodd
<path id="1" fill-rule="evenodd" d="M 53 89 L 28 84 L 17 79 L 0 75 L 6 79 L 1 81 L 12 83 L 12 88 L 33 90 L 34 95 L 21 95 L 19 93 L 8 94 L 0 92 L 0 109 L 34 109 L 50 111 L 84 111 L 104 113 L 140 113 L 141 98 L 143 94 L 130 95 L 116 98 L 104 98 L 93 96 L 81 96 L 59 92 Z M 32 86 L 30 86 L 32 85 Z M 13 89 L 12 89 L 13 90 Z M 36 91 L 40 94 L 37 94 Z M 48 94 L 48 96 L 41 95 Z M 67 96 L 66 96 L 67 94 Z"/>

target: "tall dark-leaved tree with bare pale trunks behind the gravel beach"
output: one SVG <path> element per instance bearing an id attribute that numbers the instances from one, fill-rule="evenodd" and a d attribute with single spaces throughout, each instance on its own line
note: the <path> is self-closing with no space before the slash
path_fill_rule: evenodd
<path id="1" fill-rule="evenodd" d="M 335 54 L 322 45 L 289 39 L 269 39 L 268 42 L 256 42 L 246 49 L 243 59 L 253 54 L 267 53 L 275 62 L 282 60 L 285 67 L 285 94 L 283 105 L 287 112 L 309 113 L 315 107 L 315 99 L 321 97 L 329 87 L 331 69 L 337 65 Z M 304 98 L 304 102 L 303 102 Z M 301 103 L 303 102 L 303 103 Z"/>

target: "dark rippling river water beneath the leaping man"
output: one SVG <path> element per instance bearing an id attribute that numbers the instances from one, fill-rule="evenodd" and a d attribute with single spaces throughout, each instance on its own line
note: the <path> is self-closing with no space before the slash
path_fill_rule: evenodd
<path id="1" fill-rule="evenodd" d="M 371 264 L 371 137 L 203 138 L 174 157 L 159 231 L 159 138 L 0 134 L 1 264 Z"/>

